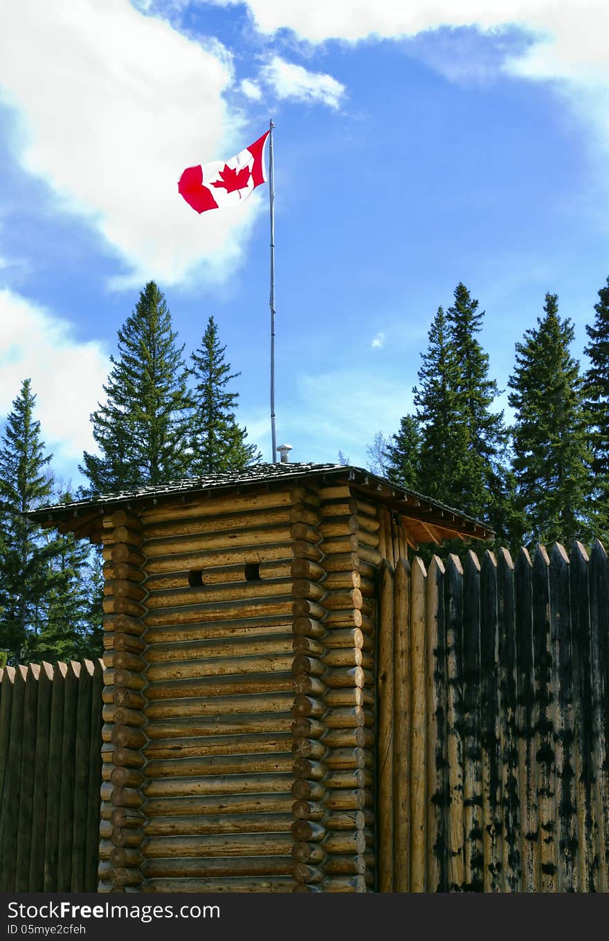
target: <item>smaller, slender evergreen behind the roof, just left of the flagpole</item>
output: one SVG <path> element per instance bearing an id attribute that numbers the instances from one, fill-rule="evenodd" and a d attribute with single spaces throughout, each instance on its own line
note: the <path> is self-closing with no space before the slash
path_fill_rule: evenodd
<path id="1" fill-rule="evenodd" d="M 210 317 L 200 348 L 191 354 L 195 430 L 190 446 L 195 474 L 242 470 L 262 460 L 256 446 L 247 443 L 248 429 L 236 423 L 234 411 L 239 393 L 227 387 L 241 374 L 231 373 L 231 364 L 224 359 L 225 350 L 226 346 L 220 346 L 216 322 Z"/>

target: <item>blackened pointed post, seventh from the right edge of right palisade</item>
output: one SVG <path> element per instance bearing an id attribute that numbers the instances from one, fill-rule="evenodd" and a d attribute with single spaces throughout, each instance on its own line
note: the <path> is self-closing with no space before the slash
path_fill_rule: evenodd
<path id="1" fill-rule="evenodd" d="M 497 563 L 486 552 L 481 573 L 480 698 L 482 710 L 482 799 L 484 826 L 484 887 L 503 888 L 502 765 L 498 673 Z"/>

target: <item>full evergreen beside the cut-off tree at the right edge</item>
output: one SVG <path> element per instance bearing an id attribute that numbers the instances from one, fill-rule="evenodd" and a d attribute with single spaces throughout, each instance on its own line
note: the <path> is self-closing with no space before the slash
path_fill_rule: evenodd
<path id="1" fill-rule="evenodd" d="M 579 363 L 569 353 L 574 331 L 547 294 L 537 329 L 516 344 L 508 402 L 516 413 L 513 470 L 523 541 L 552 542 L 589 534 L 585 411 Z"/>

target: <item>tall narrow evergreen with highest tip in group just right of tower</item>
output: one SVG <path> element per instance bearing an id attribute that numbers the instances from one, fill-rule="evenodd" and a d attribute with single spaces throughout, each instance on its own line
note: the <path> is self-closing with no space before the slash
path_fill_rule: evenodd
<path id="1" fill-rule="evenodd" d="M 468 439 L 467 459 L 458 486 L 460 508 L 475 518 L 489 518 L 493 529 L 497 529 L 505 514 L 507 430 L 503 411 L 491 410 L 499 390 L 489 378 L 489 355 L 476 339 L 483 318 L 478 301 L 459 282 L 455 303 L 446 311 L 446 321 L 452 355 L 459 365 L 456 407 L 465 422 Z"/>

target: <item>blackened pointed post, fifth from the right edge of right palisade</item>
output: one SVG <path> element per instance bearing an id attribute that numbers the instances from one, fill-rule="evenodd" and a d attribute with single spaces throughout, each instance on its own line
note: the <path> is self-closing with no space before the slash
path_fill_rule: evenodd
<path id="1" fill-rule="evenodd" d="M 535 653 L 533 645 L 533 565 L 521 549 L 514 566 L 516 587 L 516 678 L 521 794 L 521 891 L 537 892 L 539 818 L 535 742 Z"/>

